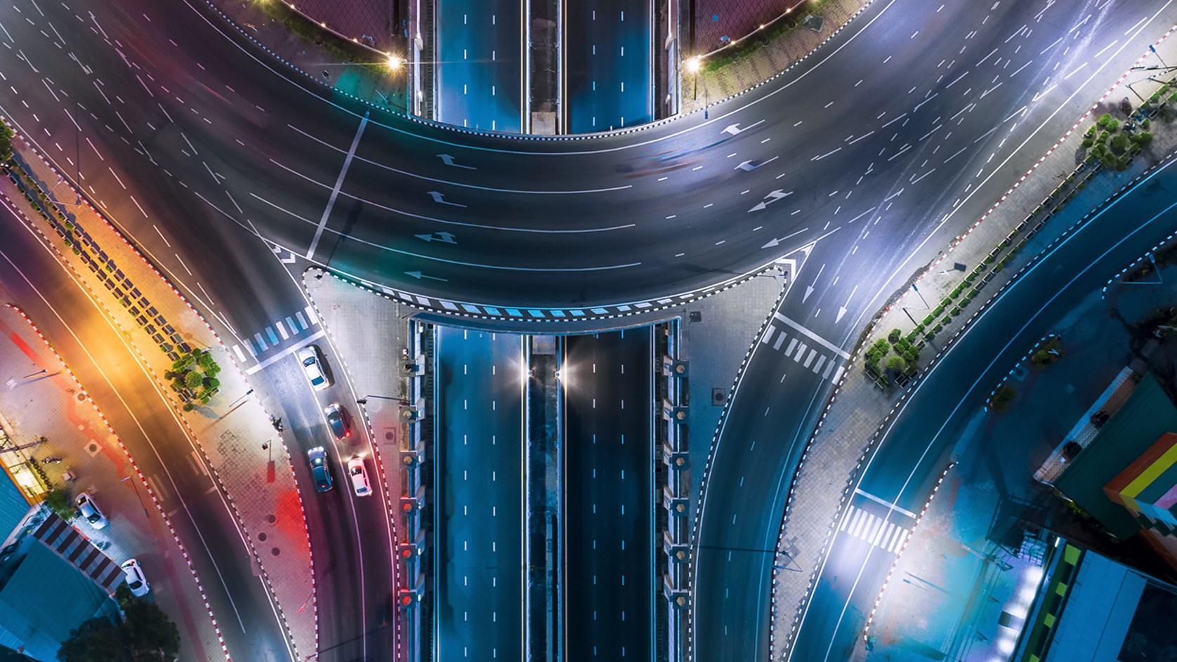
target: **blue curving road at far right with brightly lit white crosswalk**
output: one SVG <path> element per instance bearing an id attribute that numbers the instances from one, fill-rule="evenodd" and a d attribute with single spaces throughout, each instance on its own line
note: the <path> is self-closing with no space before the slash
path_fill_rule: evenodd
<path id="1" fill-rule="evenodd" d="M 847 522 L 839 523 L 792 650 L 793 660 L 851 656 L 897 549 L 886 540 L 875 544 L 862 540 L 870 536 L 867 527 L 882 529 L 882 536 L 886 536 L 889 523 L 911 529 L 915 519 L 910 513 L 918 513 L 927 501 L 953 446 L 979 414 L 993 385 L 1079 301 L 1177 229 L 1177 169 L 1172 166 L 1169 160 L 1066 240 L 1046 249 L 957 339 L 904 402 L 856 486 L 860 492 L 851 502 Z M 860 523 L 864 520 L 866 524 Z M 859 535 L 853 535 L 855 529 Z M 904 534 L 892 533 L 891 540 L 897 535 Z"/>

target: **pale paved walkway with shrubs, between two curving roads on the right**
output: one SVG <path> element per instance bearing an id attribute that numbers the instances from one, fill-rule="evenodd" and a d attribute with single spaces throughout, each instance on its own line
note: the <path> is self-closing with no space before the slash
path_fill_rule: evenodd
<path id="1" fill-rule="evenodd" d="M 1157 45 L 1157 49 L 1166 60 L 1177 59 L 1175 42 L 1177 40 L 1164 39 Z M 1156 83 L 1148 81 L 1143 85 L 1133 82 L 1133 88 L 1144 96 L 1157 87 Z M 852 356 L 859 369 L 849 370 L 843 385 L 834 389 L 831 407 L 810 440 L 807 460 L 798 470 L 791 489 L 792 504 L 785 514 L 778 549 L 790 554 L 805 571 L 777 573 L 773 579 L 773 629 L 777 641 L 786 642 L 785 647 L 791 644 L 796 635 L 802 609 L 809 597 L 810 582 L 817 579 L 817 569 L 826 553 L 831 540 L 830 533 L 842 511 L 845 494 L 851 489 L 882 423 L 897 406 L 895 395 L 883 393 L 860 369 L 863 348 L 879 337 L 885 337 L 893 328 L 906 334 L 915 325 L 904 308 L 918 320 L 922 317 L 920 310 L 926 315 L 930 306 L 936 306 L 944 295 L 960 285 L 964 274 L 953 270 L 952 266 L 959 262 L 966 268 L 972 268 L 982 263 L 993 247 L 1025 220 L 1075 168 L 1076 154 L 1083 139 L 1083 132 L 1078 129 L 1085 129 L 1096 113 L 1113 112 L 1115 103 L 1105 103 L 1106 100 L 1118 100 L 1125 95 L 1131 93 L 1122 80 L 1099 100 L 1096 111 L 1089 112 L 1076 122 L 1075 127 L 1038 161 L 1035 169 L 995 202 L 993 207 L 963 236 L 953 240 L 940 261 L 912 281 L 918 292 L 905 287 L 870 325 L 866 340 Z M 1142 156 L 1137 156 L 1125 172 L 1105 170 L 1090 180 L 1086 187 L 1078 190 L 1076 198 L 1064 207 L 1062 214 L 1045 223 L 1043 229 L 1029 240 L 1025 248 L 993 274 L 993 279 L 985 286 L 980 296 L 962 306 L 960 313 L 956 314 L 936 335 L 936 340 L 924 348 L 922 359 L 924 367 L 930 356 L 942 352 L 942 348 L 951 342 L 951 337 L 955 337 L 978 314 L 1004 283 L 1015 279 L 1035 255 L 1080 221 L 1084 213 L 1100 207 L 1109 198 L 1158 162 L 1164 154 L 1177 149 L 1177 131 L 1173 127 L 1157 121 L 1153 122 L 1152 129 L 1156 132 L 1152 145 Z M 906 390 L 898 393 L 900 401 L 906 397 Z"/>

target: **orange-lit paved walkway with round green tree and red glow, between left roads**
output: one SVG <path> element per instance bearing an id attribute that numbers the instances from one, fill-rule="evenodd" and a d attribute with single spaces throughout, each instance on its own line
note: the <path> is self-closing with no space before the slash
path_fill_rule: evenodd
<path id="1" fill-rule="evenodd" d="M 255 571 L 274 596 L 295 650 L 300 656 L 318 650 L 310 539 L 301 497 L 286 447 L 275 446 L 281 440 L 252 396 L 245 375 L 212 327 L 105 218 L 86 202 L 74 205 L 74 192 L 22 140 L 15 140 L 14 148 L 41 187 L 65 200 L 61 208 L 79 241 L 77 252 L 56 250 L 58 260 L 120 328 L 202 450 L 202 460 L 213 469 L 213 479 L 248 536 Z M 29 220 L 31 227 L 53 238 L 52 246 L 62 246 L 49 222 L 33 210 L 11 179 L 0 179 L 0 193 Z M 109 262 L 102 260 L 104 255 Z M 161 343 L 211 352 L 222 370 L 217 375 L 220 390 L 208 404 L 182 410 L 180 397 L 164 379 L 173 359 L 161 350 Z"/>

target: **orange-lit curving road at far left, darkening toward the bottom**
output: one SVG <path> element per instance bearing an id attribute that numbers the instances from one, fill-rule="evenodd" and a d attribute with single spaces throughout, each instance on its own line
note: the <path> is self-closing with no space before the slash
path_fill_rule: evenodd
<path id="1" fill-rule="evenodd" d="M 195 446 L 164 393 L 121 334 L 7 205 L 0 208 L 0 280 L 14 296 L 12 303 L 35 321 L 142 474 L 160 486 L 157 496 L 172 514 L 225 646 L 242 660 L 293 661 L 271 596 L 251 573 L 244 534 L 208 468 L 193 463 Z"/>

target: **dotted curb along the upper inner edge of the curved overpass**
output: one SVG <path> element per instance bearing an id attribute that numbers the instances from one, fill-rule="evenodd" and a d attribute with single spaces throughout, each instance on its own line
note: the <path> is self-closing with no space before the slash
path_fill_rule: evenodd
<path id="1" fill-rule="evenodd" d="M 726 103 L 727 101 L 731 101 L 732 99 L 736 99 L 737 96 L 742 96 L 744 94 L 747 94 L 749 92 L 751 92 L 751 91 L 753 91 L 753 89 L 756 89 L 756 88 L 758 88 L 760 86 L 767 85 L 769 82 L 772 82 L 772 81 L 777 80 L 778 78 L 783 76 L 784 74 L 786 74 L 790 71 L 792 71 L 793 68 L 796 68 L 798 65 L 800 65 L 805 60 L 809 60 L 810 56 L 813 55 L 813 53 L 816 53 L 817 51 L 819 51 L 823 46 L 826 45 L 826 42 L 829 42 L 831 39 L 833 39 L 839 33 L 842 33 L 842 31 L 845 29 L 846 26 L 849 26 L 856 18 L 858 18 L 864 11 L 866 11 L 867 7 L 870 7 L 871 5 L 873 5 L 875 0 L 870 0 L 869 2 L 866 2 L 865 5 L 863 5 L 862 7 L 859 7 L 858 11 L 855 12 L 853 14 L 851 14 L 850 18 L 846 19 L 840 26 L 838 26 L 837 29 L 834 29 L 833 32 L 831 32 L 825 39 L 823 39 L 820 42 L 818 42 L 817 46 L 814 46 L 807 53 L 805 53 L 805 55 L 803 55 L 799 59 L 792 61 L 784 69 L 780 69 L 779 72 L 777 72 L 772 76 L 766 78 L 766 79 L 762 80 L 760 82 L 758 82 L 758 83 L 756 83 L 756 85 L 753 85 L 751 87 L 747 87 L 747 88 L 742 89 L 739 92 L 736 92 L 733 94 L 729 94 L 727 96 L 724 96 L 723 99 L 720 99 L 718 101 L 714 101 L 714 102 L 712 102 L 709 106 L 703 106 L 703 107 L 696 108 L 694 111 L 691 111 L 690 113 L 685 113 L 685 114 L 684 113 L 679 113 L 677 115 L 671 115 L 669 118 L 663 118 L 663 119 L 656 120 L 653 122 L 649 122 L 649 123 L 645 123 L 645 125 L 638 125 L 638 126 L 630 127 L 630 128 L 617 129 L 617 131 L 609 131 L 609 132 L 579 133 L 579 134 L 561 134 L 561 135 L 537 135 L 537 134 L 523 134 L 523 133 L 499 133 L 499 132 L 491 132 L 491 131 L 478 131 L 478 129 L 471 129 L 468 127 L 459 127 L 459 126 L 455 126 L 455 125 L 439 122 L 437 120 L 431 120 L 431 119 L 427 119 L 427 118 L 420 118 L 418 115 L 413 115 L 411 113 L 406 113 L 406 112 L 401 112 L 401 111 L 392 111 L 390 108 L 375 105 L 372 101 L 368 101 L 367 99 L 363 99 L 360 96 L 357 96 L 357 95 L 352 94 L 351 92 L 345 92 L 343 89 L 335 89 L 335 87 L 333 87 L 331 85 L 327 85 L 326 82 L 320 81 L 319 79 L 314 78 L 313 75 L 311 75 L 310 73 L 307 73 L 305 69 L 302 69 L 298 65 L 295 65 L 294 62 L 287 60 L 286 58 L 282 58 L 281 55 L 279 55 L 278 53 L 275 53 L 273 49 L 271 49 L 268 46 L 266 46 L 265 44 L 262 44 L 261 41 L 259 41 L 257 38 L 254 38 L 252 34 L 250 34 L 248 32 L 246 32 L 246 29 L 244 27 L 241 27 L 240 25 L 238 25 L 238 22 L 235 20 L 233 20 L 232 16 L 230 16 L 228 14 L 226 14 L 225 12 L 222 12 L 220 9 L 220 7 L 218 7 L 215 4 L 213 4 L 213 0 L 205 0 L 205 4 L 212 11 L 217 12 L 217 14 L 220 15 L 220 18 L 225 22 L 227 22 L 231 27 L 233 27 L 233 29 L 235 29 L 239 34 L 241 34 L 242 36 L 245 36 L 246 39 L 248 39 L 251 42 L 253 42 L 254 46 L 261 48 L 262 51 L 265 51 L 266 53 L 268 53 L 273 58 L 278 59 L 279 62 L 281 62 L 281 63 L 286 65 L 287 67 L 294 69 L 295 72 L 302 74 L 305 78 L 314 81 L 317 85 L 322 86 L 322 87 L 330 89 L 333 94 L 341 94 L 341 95 L 344 95 L 344 96 L 346 96 L 346 98 L 348 98 L 348 99 L 351 99 L 351 100 L 353 100 L 353 101 L 355 101 L 358 103 L 363 103 L 364 106 L 367 106 L 368 108 L 372 108 L 372 109 L 375 109 L 375 111 L 380 111 L 380 112 L 384 112 L 384 113 L 388 113 L 390 115 L 393 115 L 395 118 L 408 120 L 411 122 L 417 122 L 419 125 L 427 126 L 427 127 L 431 127 L 431 128 L 440 128 L 440 129 L 450 131 L 450 132 L 453 132 L 453 133 L 461 133 L 461 134 L 466 134 L 466 135 L 476 135 L 476 136 L 479 136 L 479 138 L 493 138 L 493 139 L 517 140 L 517 141 L 526 141 L 526 142 L 543 142 L 543 141 L 547 141 L 547 142 L 571 142 L 571 141 L 579 141 L 579 140 L 596 140 L 596 139 L 600 139 L 600 138 L 614 138 L 614 136 L 618 136 L 618 135 L 629 135 L 629 134 L 632 134 L 632 133 L 638 133 L 638 132 L 641 132 L 641 131 L 649 131 L 649 129 L 652 129 L 652 128 L 661 127 L 664 125 L 669 125 L 670 122 L 680 120 L 680 119 L 683 119 L 685 116 L 694 115 L 694 114 L 698 114 L 699 112 L 703 112 L 703 111 L 710 111 L 711 108 L 713 108 L 713 107 L 716 107 L 716 106 L 718 106 L 720 103 Z M 317 22 L 317 25 L 318 25 L 318 22 Z"/>

